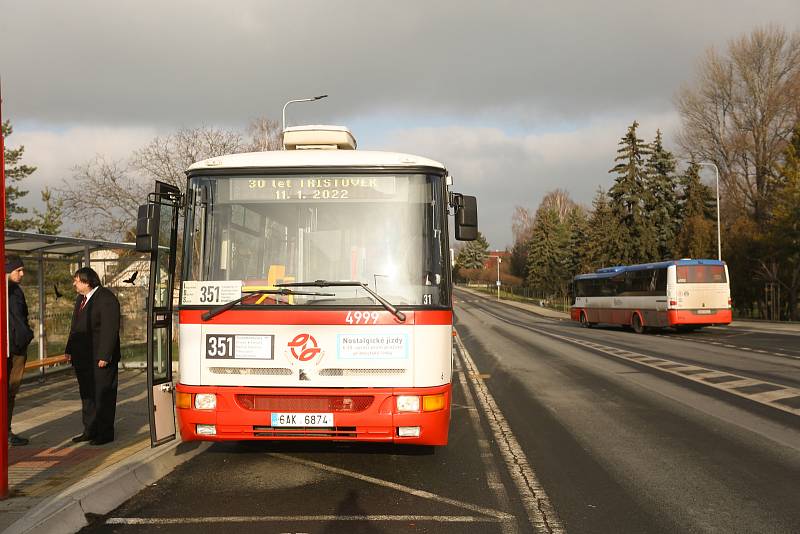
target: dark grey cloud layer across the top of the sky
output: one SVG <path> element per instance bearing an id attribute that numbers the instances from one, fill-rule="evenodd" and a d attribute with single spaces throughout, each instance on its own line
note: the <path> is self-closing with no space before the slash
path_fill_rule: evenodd
<path id="1" fill-rule="evenodd" d="M 800 20 L 794 0 L 2 6 L 7 105 L 48 124 L 242 122 L 318 92 L 331 119 L 658 112 L 708 46 Z"/>

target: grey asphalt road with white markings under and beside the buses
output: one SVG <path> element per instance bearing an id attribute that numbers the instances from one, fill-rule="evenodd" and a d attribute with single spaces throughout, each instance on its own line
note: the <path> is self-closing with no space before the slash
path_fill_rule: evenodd
<path id="1" fill-rule="evenodd" d="M 218 444 L 84 531 L 800 532 L 800 336 L 457 295 L 446 448 Z"/>

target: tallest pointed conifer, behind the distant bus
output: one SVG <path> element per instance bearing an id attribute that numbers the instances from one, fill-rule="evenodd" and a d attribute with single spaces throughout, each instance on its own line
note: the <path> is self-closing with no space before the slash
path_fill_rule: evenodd
<path id="1" fill-rule="evenodd" d="M 646 212 L 646 206 L 652 202 L 645 166 L 650 147 L 637 137 L 638 127 L 636 121 L 628 127 L 614 158 L 617 164 L 608 171 L 617 175 L 608 192 L 620 234 L 614 256 L 626 264 L 653 261 L 658 257 L 655 230 Z"/>

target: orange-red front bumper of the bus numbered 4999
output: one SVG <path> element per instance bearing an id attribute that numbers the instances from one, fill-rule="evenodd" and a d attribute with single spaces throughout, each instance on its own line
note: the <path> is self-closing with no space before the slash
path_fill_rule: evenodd
<path id="1" fill-rule="evenodd" d="M 447 445 L 451 385 L 432 388 L 256 388 L 229 386 L 176 387 L 178 428 L 184 441 L 315 440 L 371 441 L 412 445 Z M 213 410 L 195 409 L 197 393 L 216 395 Z M 188 402 L 187 402 L 188 395 Z M 396 396 L 443 396 L 433 411 L 398 412 Z M 439 399 L 441 400 L 441 399 Z M 181 401 L 183 406 L 181 407 Z M 273 427 L 272 413 L 333 413 L 331 428 Z M 197 425 L 213 425 L 214 434 L 199 434 Z M 401 436 L 401 427 L 419 427 L 418 436 Z M 208 431 L 208 426 L 205 427 Z"/>

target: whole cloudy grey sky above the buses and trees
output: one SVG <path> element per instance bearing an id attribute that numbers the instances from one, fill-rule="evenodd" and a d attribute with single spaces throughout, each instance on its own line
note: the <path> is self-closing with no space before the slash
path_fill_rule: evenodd
<path id="1" fill-rule="evenodd" d="M 502 249 L 514 206 L 607 189 L 634 119 L 671 145 L 705 50 L 770 23 L 800 29 L 800 1 L 0 0 L 3 117 L 38 205 L 95 154 L 327 93 L 289 122 L 445 163 Z"/>

